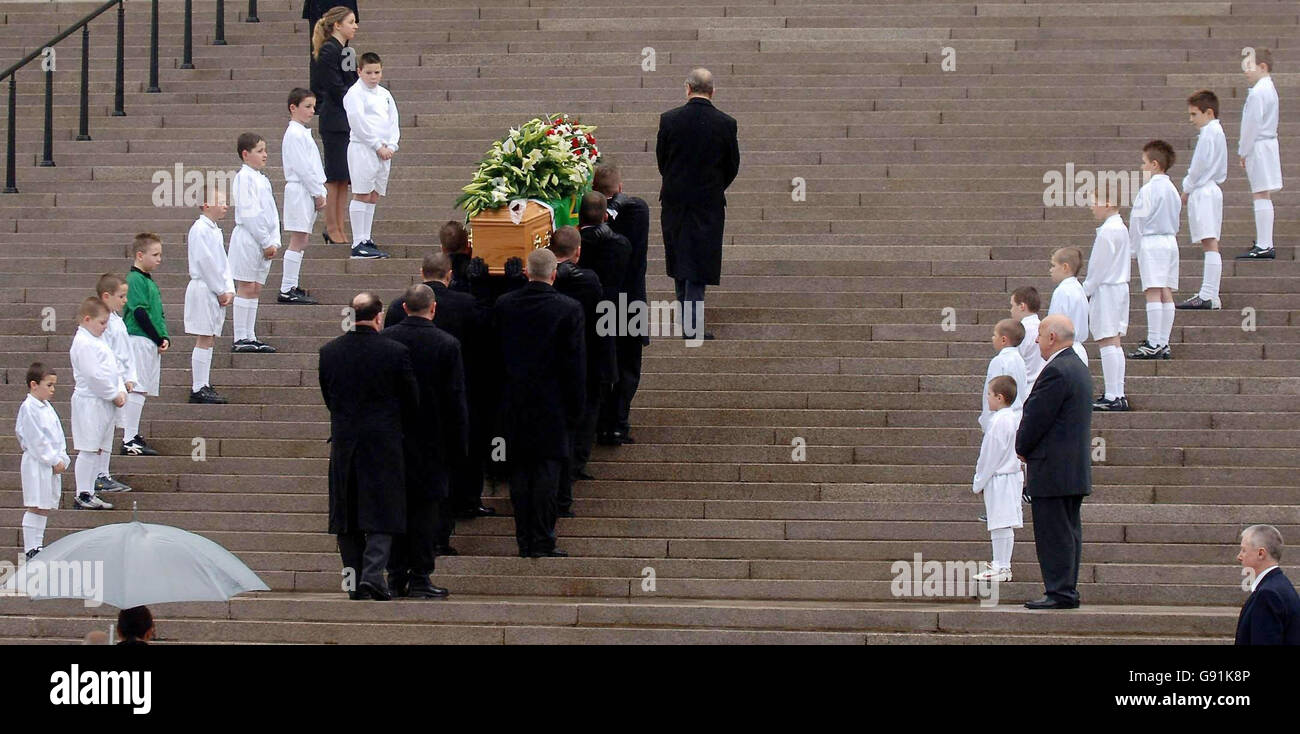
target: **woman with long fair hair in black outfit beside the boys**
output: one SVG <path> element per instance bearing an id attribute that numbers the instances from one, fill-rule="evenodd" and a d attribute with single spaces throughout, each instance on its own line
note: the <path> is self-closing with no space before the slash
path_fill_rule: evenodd
<path id="1" fill-rule="evenodd" d="M 356 83 L 356 53 L 348 42 L 356 35 L 356 13 L 334 6 L 312 29 L 312 94 L 320 116 L 325 148 L 325 242 L 347 243 L 347 113 L 343 95 Z M 346 49 L 346 51 L 344 51 Z"/>

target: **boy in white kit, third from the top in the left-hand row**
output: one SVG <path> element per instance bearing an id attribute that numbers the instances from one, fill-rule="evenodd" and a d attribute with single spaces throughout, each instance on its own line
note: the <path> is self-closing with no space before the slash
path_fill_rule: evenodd
<path id="1" fill-rule="evenodd" d="M 235 339 L 231 352 L 274 352 L 257 339 L 257 299 L 270 273 L 270 260 L 280 251 L 280 213 L 266 165 L 266 142 L 256 133 L 243 133 L 235 143 L 243 166 L 235 174 L 235 229 L 230 233 L 230 274 L 235 281 Z"/>

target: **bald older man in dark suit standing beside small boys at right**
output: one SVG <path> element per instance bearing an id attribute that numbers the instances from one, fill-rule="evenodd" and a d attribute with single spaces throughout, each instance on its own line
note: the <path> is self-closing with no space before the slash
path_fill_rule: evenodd
<path id="1" fill-rule="evenodd" d="M 1069 317 L 1043 320 L 1039 352 L 1046 364 L 1015 434 L 1015 453 L 1028 469 L 1024 494 L 1034 509 L 1034 547 L 1046 587 L 1045 596 L 1024 604 L 1030 609 L 1079 607 L 1079 511 L 1092 494 L 1092 375 L 1072 347 Z"/>

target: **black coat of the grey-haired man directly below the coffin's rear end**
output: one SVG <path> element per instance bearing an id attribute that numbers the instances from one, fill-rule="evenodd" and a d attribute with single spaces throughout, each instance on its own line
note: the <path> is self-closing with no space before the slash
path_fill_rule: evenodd
<path id="1" fill-rule="evenodd" d="M 582 307 L 549 283 L 529 282 L 497 299 L 493 321 L 506 368 L 506 460 L 568 459 L 568 433 L 586 398 Z"/>

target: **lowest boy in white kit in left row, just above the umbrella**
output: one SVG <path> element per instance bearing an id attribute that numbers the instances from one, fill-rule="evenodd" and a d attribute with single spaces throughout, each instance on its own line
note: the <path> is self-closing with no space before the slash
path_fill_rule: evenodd
<path id="1" fill-rule="evenodd" d="M 14 433 L 22 449 L 22 552 L 31 560 L 46 542 L 49 511 L 58 509 L 64 488 L 62 473 L 72 465 L 64 424 L 49 401 L 58 378 L 46 365 L 27 368 L 27 398 L 18 407 Z"/>

